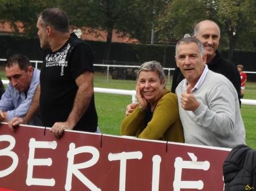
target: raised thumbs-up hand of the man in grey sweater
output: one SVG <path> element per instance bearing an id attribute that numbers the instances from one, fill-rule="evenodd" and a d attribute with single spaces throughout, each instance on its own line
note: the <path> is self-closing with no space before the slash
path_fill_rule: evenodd
<path id="1" fill-rule="evenodd" d="M 183 109 L 194 112 L 201 103 L 196 100 L 196 97 L 192 94 L 191 90 L 192 87 L 188 84 L 186 92 L 181 93 L 180 103 Z"/>

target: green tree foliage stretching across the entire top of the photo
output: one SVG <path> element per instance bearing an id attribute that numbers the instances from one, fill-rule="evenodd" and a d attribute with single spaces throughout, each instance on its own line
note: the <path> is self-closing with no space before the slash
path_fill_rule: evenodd
<path id="1" fill-rule="evenodd" d="M 24 36 L 34 37 L 37 15 L 49 7 L 61 7 L 72 26 L 89 27 L 89 33 L 108 31 L 102 53 L 110 57 L 113 28 L 144 43 L 150 41 L 154 24 L 156 41 L 170 42 L 192 34 L 195 24 L 205 19 L 220 25 L 219 49 L 229 48 L 229 60 L 235 49 L 253 50 L 256 46 L 254 0 L 2 0 L 0 22 L 11 22 L 18 33 L 15 22 L 20 21 Z M 143 60 L 139 54 L 135 57 Z"/>

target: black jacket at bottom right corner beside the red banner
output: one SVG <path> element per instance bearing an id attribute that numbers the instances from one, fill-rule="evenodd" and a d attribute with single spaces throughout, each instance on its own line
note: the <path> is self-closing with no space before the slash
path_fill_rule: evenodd
<path id="1" fill-rule="evenodd" d="M 256 189 L 256 151 L 237 145 L 223 164 L 225 191 Z"/>

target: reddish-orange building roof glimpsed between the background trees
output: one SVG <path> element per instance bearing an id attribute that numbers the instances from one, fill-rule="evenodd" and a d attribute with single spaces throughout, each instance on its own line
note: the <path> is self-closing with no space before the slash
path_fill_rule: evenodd
<path id="1" fill-rule="evenodd" d="M 15 23 L 18 27 L 18 30 L 20 33 L 23 33 L 24 29 L 22 28 L 23 24 L 20 22 Z M 71 32 L 73 29 L 71 29 Z M 93 41 L 105 41 L 108 36 L 108 33 L 106 31 L 100 31 L 100 30 L 93 30 L 92 33 L 90 33 L 90 28 L 83 27 L 80 29 L 81 31 L 81 39 L 82 40 L 93 40 Z M 0 35 L 1 34 L 11 34 L 14 32 L 14 29 L 11 28 L 10 22 L 1 23 L 0 22 Z M 112 36 L 112 42 L 115 43 L 139 43 L 137 39 L 129 39 L 129 37 L 121 37 L 123 33 L 117 33 L 117 30 L 113 30 L 113 36 Z"/>

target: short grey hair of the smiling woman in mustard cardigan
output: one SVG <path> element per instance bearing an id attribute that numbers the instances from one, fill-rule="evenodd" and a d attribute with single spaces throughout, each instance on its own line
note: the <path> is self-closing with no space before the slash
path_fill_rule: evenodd
<path id="1" fill-rule="evenodd" d="M 137 81 L 138 81 L 139 73 L 141 73 L 141 71 L 156 71 L 156 73 L 158 73 L 159 75 L 161 83 L 166 78 L 163 67 L 160 65 L 159 62 L 156 62 L 156 61 L 144 62 L 142 63 L 141 66 L 139 66 Z"/>

